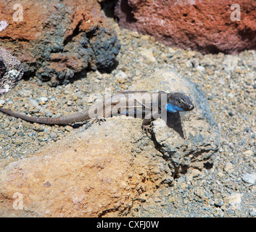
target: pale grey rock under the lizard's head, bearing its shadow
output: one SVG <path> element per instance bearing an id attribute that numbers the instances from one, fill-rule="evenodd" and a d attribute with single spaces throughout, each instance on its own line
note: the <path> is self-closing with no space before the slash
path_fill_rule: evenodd
<path id="1" fill-rule="evenodd" d="M 190 96 L 191 112 L 169 114 L 167 123 L 153 122 L 154 139 L 172 173 L 186 170 L 193 162 L 212 165 L 220 146 L 220 131 L 202 89 L 174 70 L 156 70 L 131 90 L 181 92 Z"/>

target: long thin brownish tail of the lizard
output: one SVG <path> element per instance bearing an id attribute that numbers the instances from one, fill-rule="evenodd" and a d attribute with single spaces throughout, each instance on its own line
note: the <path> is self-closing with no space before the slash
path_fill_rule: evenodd
<path id="1" fill-rule="evenodd" d="M 21 118 L 22 120 L 28 121 L 30 123 L 40 123 L 48 125 L 64 125 L 69 123 L 82 122 L 84 120 L 89 120 L 90 117 L 86 115 L 86 112 L 79 112 L 73 115 L 67 115 L 62 117 L 30 117 L 26 115 L 21 115 L 17 112 L 12 112 L 9 109 L 4 109 L 0 107 L 0 112 L 4 112 L 7 115 L 13 117 Z"/>

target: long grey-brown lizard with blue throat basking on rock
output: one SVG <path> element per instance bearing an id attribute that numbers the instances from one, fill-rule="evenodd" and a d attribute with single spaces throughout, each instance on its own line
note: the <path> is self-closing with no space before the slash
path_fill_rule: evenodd
<path id="1" fill-rule="evenodd" d="M 194 109 L 194 104 L 189 96 L 181 93 L 165 93 L 165 91 L 159 91 L 157 93 L 149 91 L 123 91 L 103 101 L 96 102 L 96 104 L 83 112 L 62 117 L 30 117 L 12 112 L 3 107 L 0 107 L 0 112 L 30 123 L 46 125 L 67 125 L 91 119 L 98 120 L 100 123 L 107 117 L 115 115 L 141 117 L 143 119 L 142 130 L 147 133 L 152 121 L 165 115 L 165 113 L 191 111 L 192 109 Z"/>

